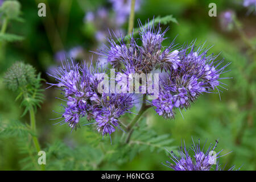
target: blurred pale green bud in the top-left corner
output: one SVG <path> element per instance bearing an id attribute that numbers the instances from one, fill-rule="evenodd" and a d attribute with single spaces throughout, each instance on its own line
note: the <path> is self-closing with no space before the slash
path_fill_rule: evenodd
<path id="1" fill-rule="evenodd" d="M 8 19 L 16 19 L 20 14 L 20 3 L 18 1 L 5 1 L 0 7 L 0 12 Z"/>

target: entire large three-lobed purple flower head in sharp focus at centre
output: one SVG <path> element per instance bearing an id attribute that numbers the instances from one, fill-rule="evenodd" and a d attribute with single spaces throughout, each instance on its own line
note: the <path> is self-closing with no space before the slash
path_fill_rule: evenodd
<path id="1" fill-rule="evenodd" d="M 101 82 L 105 82 L 107 72 L 98 64 L 94 68 L 92 65 L 88 67 L 86 63 L 80 65 L 73 61 L 65 61 L 62 67 L 49 74 L 57 81 L 51 85 L 63 90 L 67 102 L 61 123 L 68 123 L 69 127 L 76 129 L 80 118 L 86 117 L 88 121 L 95 120 L 93 123 L 96 123 L 97 130 L 102 135 L 112 134 L 119 128 L 118 118 L 129 112 L 135 104 L 139 104 L 142 90 L 146 90 L 143 94 L 152 96 L 147 88 L 148 85 L 152 86 L 153 81 L 154 94 L 155 90 L 158 94 L 156 98 L 151 98 L 147 102 L 164 118 L 174 118 L 175 109 L 188 109 L 191 102 L 201 94 L 218 90 L 217 86 L 222 84 L 220 75 L 227 65 L 221 67 L 223 61 L 217 61 L 217 56 L 213 54 L 209 55 L 209 49 L 205 49 L 204 44 L 195 46 L 195 42 L 192 42 L 177 47 L 172 41 L 169 46 L 163 47 L 162 42 L 166 39 L 164 34 L 167 30 L 161 31 L 160 26 L 154 27 L 154 22 L 148 22 L 147 26 L 142 26 L 141 22 L 139 24 L 140 39 L 135 39 L 131 35 L 129 43 L 126 43 L 124 38 L 117 43 L 110 37 L 110 46 L 105 46 L 102 51 L 97 52 L 101 59 L 105 58 L 117 71 L 113 79 L 113 69 L 110 69 L 110 89 L 102 88 Z M 138 77 L 138 85 L 130 85 L 133 78 L 135 81 L 137 79 L 132 75 L 156 72 L 160 73 L 160 78 L 154 77 L 153 80 L 145 76 L 146 80 L 140 80 Z M 111 86 L 113 81 L 114 90 Z M 146 85 L 143 81 L 146 81 Z M 155 85 L 155 82 L 158 84 Z M 109 92 L 99 92 L 99 85 Z M 131 93 L 130 90 L 135 92 Z M 139 93 L 136 92 L 138 90 Z M 134 102 L 135 100 L 137 102 Z"/>

